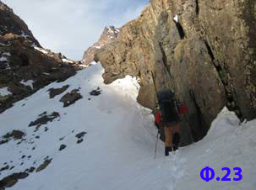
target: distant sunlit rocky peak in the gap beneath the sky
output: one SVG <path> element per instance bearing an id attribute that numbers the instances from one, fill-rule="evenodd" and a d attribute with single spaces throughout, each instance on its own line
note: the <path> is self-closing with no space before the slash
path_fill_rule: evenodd
<path id="1" fill-rule="evenodd" d="M 96 50 L 101 49 L 104 45 L 109 44 L 113 40 L 117 39 L 117 35 L 119 33 L 119 29 L 114 26 L 106 27 L 101 34 L 101 38 L 90 48 L 85 50 L 82 63 L 84 65 L 89 65 L 94 61 Z"/>

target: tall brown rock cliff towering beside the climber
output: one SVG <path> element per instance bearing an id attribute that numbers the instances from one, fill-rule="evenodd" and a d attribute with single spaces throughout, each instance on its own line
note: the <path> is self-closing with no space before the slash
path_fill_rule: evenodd
<path id="1" fill-rule="evenodd" d="M 256 2 L 150 0 L 95 61 L 106 83 L 138 77 L 145 107 L 155 107 L 151 72 L 157 90 L 172 87 L 189 107 L 183 144 L 200 140 L 224 106 L 256 116 Z"/>

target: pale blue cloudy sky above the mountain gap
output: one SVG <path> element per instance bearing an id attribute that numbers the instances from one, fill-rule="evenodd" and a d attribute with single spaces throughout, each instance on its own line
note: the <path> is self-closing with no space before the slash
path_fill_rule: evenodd
<path id="1" fill-rule="evenodd" d="M 25 20 L 41 45 L 81 60 L 105 26 L 139 16 L 149 0 L 2 0 Z"/>

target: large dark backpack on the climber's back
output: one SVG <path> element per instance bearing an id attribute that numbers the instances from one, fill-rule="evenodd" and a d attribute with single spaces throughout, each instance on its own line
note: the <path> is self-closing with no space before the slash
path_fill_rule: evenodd
<path id="1" fill-rule="evenodd" d="M 163 123 L 180 121 L 177 99 L 172 90 L 158 92 L 158 101 L 161 110 L 161 121 Z"/>

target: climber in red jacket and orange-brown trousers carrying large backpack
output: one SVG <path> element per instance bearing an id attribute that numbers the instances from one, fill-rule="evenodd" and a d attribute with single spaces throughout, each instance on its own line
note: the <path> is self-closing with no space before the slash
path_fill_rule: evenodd
<path id="1" fill-rule="evenodd" d="M 180 115 L 188 108 L 177 101 L 171 90 L 158 92 L 159 107 L 155 111 L 155 125 L 159 129 L 160 139 L 165 142 L 165 155 L 178 149 L 180 142 Z"/>

